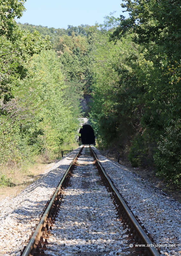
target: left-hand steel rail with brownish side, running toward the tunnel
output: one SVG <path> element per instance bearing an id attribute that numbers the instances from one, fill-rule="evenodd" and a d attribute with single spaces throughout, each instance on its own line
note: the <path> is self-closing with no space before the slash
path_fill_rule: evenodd
<path id="1" fill-rule="evenodd" d="M 79 150 L 79 152 L 76 154 L 76 156 L 72 160 L 71 164 L 69 165 L 69 168 L 65 172 L 65 174 L 64 174 L 62 180 L 60 181 L 60 183 L 59 183 L 59 185 L 58 185 L 58 187 L 57 187 L 57 189 L 56 189 L 56 191 L 55 191 L 55 193 L 54 193 L 54 195 L 53 195 L 49 205 L 47 206 L 47 209 L 46 209 L 45 213 L 43 214 L 43 216 L 42 216 L 42 218 L 41 218 L 37 228 L 35 229 L 35 231 L 34 231 L 32 237 L 31 237 L 30 241 L 26 245 L 25 251 L 23 252 L 22 256 L 29 256 L 30 255 L 30 253 L 31 253 L 31 251 L 33 249 L 33 246 L 36 243 L 36 240 L 37 240 L 38 236 L 40 235 L 41 229 L 43 228 L 43 225 L 44 225 L 45 221 L 47 220 L 48 214 L 51 211 L 51 208 L 52 208 L 52 206 L 54 204 L 54 201 L 55 201 L 55 199 L 56 199 L 56 197 L 57 197 L 57 195 L 58 195 L 58 193 L 59 193 L 59 191 L 60 191 L 60 189 L 62 187 L 62 184 L 63 184 L 63 182 L 64 182 L 68 172 L 70 171 L 70 168 L 75 163 L 76 158 L 78 157 L 78 155 L 82 151 L 83 147 L 81 147 L 81 149 Z"/>

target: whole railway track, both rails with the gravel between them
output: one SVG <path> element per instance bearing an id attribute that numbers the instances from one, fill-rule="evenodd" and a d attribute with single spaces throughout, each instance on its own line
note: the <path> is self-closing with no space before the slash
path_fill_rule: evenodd
<path id="1" fill-rule="evenodd" d="M 152 237 L 139 222 L 93 149 L 83 146 L 47 202 L 21 255 L 159 256 Z"/>

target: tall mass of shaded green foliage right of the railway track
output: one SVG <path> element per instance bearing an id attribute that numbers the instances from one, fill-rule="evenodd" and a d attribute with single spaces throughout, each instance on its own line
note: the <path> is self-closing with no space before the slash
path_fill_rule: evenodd
<path id="1" fill-rule="evenodd" d="M 129 18 L 120 16 L 96 54 L 91 115 L 98 140 L 131 147 L 134 166 L 156 164 L 180 186 L 180 1 L 125 2 Z"/>

